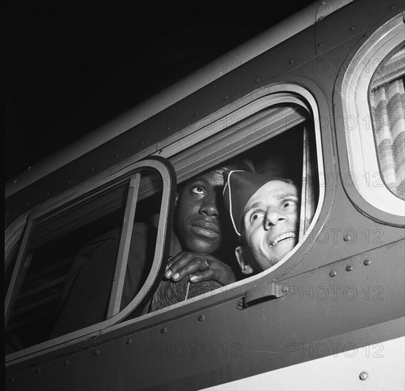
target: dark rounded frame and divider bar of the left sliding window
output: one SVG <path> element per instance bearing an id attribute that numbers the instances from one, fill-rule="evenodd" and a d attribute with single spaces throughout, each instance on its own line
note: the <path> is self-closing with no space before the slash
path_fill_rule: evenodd
<path id="1" fill-rule="evenodd" d="M 131 222 L 133 223 L 135 218 L 137 195 L 139 195 L 140 191 L 139 171 L 150 169 L 157 171 L 162 177 L 162 202 L 160 205 L 159 223 L 157 228 L 162 240 L 157 240 L 156 242 L 154 260 L 142 288 L 135 298 L 132 299 L 130 304 L 120 311 L 117 300 L 120 301 L 120 297 L 122 296 L 122 287 L 124 285 L 127 255 L 130 245 L 130 238 L 132 235 Z M 164 272 L 163 259 L 167 258 L 170 246 L 170 231 L 167 231 L 167 227 L 172 224 L 172 205 L 174 205 L 177 186 L 176 176 L 172 165 L 169 164 L 166 159 L 152 156 L 149 159 L 139 161 L 135 164 L 130 164 L 130 166 L 127 166 L 113 174 L 101 174 L 100 177 L 100 180 L 97 181 L 97 183 L 92 183 L 92 186 L 88 186 L 86 183 L 84 183 L 76 188 L 71 189 L 68 193 L 58 196 L 56 199 L 49 200 L 46 203 L 38 205 L 38 207 L 33 208 L 28 213 L 17 219 L 6 230 L 6 257 L 11 252 L 13 246 L 16 245 L 21 238 L 22 242 L 16 262 L 14 264 L 9 289 L 6 294 L 4 314 L 6 321 L 10 314 L 12 301 L 16 299 L 16 295 L 19 292 L 19 287 L 16 286 L 16 282 L 18 282 L 18 280 L 23 280 L 23 276 L 21 277 L 21 268 L 24 269 L 23 266 L 26 264 L 26 250 L 28 248 L 29 238 L 32 233 L 34 222 L 43 217 L 46 217 L 46 219 L 57 218 L 57 216 L 62 212 L 71 210 L 75 208 L 75 206 L 85 203 L 86 201 L 95 198 L 95 196 L 105 193 L 112 188 L 117 188 L 127 182 L 129 191 L 127 197 L 125 198 L 124 219 L 126 224 L 123 227 L 122 234 L 120 236 L 120 250 L 119 254 L 117 255 L 117 264 L 115 266 L 115 277 L 119 278 L 114 284 L 112 284 L 107 319 L 100 323 L 95 323 L 94 325 L 64 334 L 63 336 L 43 341 L 35 346 L 28 346 L 23 350 L 18 350 L 7 355 L 6 362 L 13 361 L 16 358 L 26 358 L 28 355 L 31 357 L 32 353 L 41 354 L 41 352 L 44 349 L 49 348 L 49 346 L 65 346 L 67 343 L 69 343 L 69 341 L 83 341 L 89 337 L 98 335 L 100 330 L 103 328 L 108 328 L 109 326 L 112 326 L 129 316 L 132 310 L 136 309 L 136 307 L 145 299 L 149 291 L 154 288 L 157 277 Z"/>

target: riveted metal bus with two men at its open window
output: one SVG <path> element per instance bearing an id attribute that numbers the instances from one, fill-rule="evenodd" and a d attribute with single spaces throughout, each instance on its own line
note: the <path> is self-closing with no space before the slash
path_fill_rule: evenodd
<path id="1" fill-rule="evenodd" d="M 404 75 L 403 1 L 315 1 L 6 183 L 6 390 L 403 390 Z M 298 244 L 140 313 L 177 186 L 232 159 L 299 174 Z M 153 254 L 122 307 L 146 220 Z M 53 336 L 80 249 L 110 230 L 105 317 Z"/>

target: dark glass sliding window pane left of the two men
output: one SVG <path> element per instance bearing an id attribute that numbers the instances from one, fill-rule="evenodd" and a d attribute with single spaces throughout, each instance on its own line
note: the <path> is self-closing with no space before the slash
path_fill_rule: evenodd
<path id="1" fill-rule="evenodd" d="M 162 257 L 156 232 L 165 232 L 162 221 L 169 220 L 169 205 L 162 205 L 163 192 L 164 202 L 172 202 L 168 186 L 166 173 L 142 168 L 48 213 L 33 212 L 6 301 L 8 353 L 80 329 L 100 329 L 100 322 L 120 313 L 124 294 L 125 304 L 135 296 L 142 301 L 151 265 L 161 263 L 153 261 L 155 255 Z M 138 235 L 142 242 L 139 235 L 146 235 L 145 227 L 154 235 L 148 259 L 132 271 L 128 291 L 125 269 L 128 255 L 136 251 L 132 238 Z"/>

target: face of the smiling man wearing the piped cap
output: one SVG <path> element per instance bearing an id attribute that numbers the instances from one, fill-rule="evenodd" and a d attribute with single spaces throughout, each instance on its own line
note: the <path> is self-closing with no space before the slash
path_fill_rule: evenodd
<path id="1" fill-rule="evenodd" d="M 298 190 L 284 181 L 270 181 L 252 195 L 243 210 L 244 249 L 254 267 L 272 267 L 298 241 Z M 245 246 L 246 247 L 246 246 Z M 253 261 L 254 259 L 254 261 Z"/>

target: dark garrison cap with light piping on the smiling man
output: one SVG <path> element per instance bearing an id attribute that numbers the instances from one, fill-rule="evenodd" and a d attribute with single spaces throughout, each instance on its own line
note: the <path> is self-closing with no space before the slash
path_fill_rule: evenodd
<path id="1" fill-rule="evenodd" d="M 287 179 L 247 171 L 223 171 L 223 203 L 231 218 L 233 230 L 239 237 L 243 210 L 248 200 L 259 188 L 270 181 L 287 181 Z"/>

